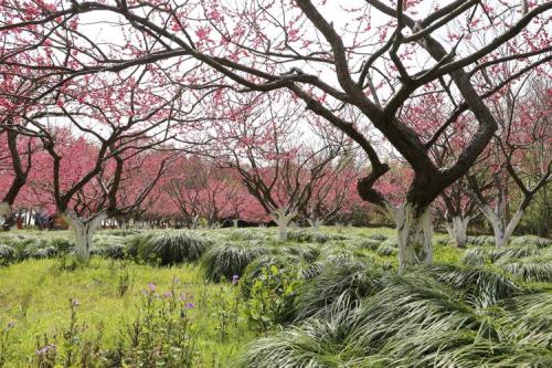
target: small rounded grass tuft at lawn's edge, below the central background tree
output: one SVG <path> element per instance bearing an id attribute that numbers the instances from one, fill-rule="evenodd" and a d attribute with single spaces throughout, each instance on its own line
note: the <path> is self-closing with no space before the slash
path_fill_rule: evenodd
<path id="1" fill-rule="evenodd" d="M 227 243 L 212 246 L 202 259 L 205 277 L 219 282 L 231 280 L 234 275 L 242 276 L 245 267 L 258 255 L 266 253 L 263 246 L 252 246 L 250 243 Z"/>

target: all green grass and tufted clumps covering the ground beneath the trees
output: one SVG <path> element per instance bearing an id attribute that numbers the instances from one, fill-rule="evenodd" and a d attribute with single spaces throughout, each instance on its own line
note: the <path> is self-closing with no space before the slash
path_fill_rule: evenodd
<path id="1" fill-rule="evenodd" d="M 151 254 L 144 256 L 140 250 L 150 249 L 156 240 L 164 239 L 160 235 L 168 233 L 99 231 L 94 238 L 94 249 L 105 259 L 93 256 L 86 266 L 74 263 L 67 255 L 72 232 L 0 233 L 0 244 L 14 252 L 9 260 L 0 262 L 0 334 L 8 323 L 14 323 L 9 330 L 4 367 L 32 366 L 36 337 L 44 333 L 52 336 L 67 328 L 70 299 L 79 302 L 77 320 L 87 326 L 83 338 L 94 339 L 102 329 L 102 348 L 116 349 L 120 337 L 128 333 L 126 329 L 142 311 L 142 291 L 148 290 L 148 284 L 155 284 L 156 293 L 162 294 L 174 288 L 176 280 L 179 293 L 187 294 L 187 301 L 193 296 L 194 307 L 189 312 L 197 339 L 193 367 L 237 367 L 240 364 L 275 367 L 286 361 L 316 362 L 317 367 L 339 364 L 406 367 L 411 361 L 431 366 L 424 360 L 429 358 L 452 362 L 458 356 L 471 364 L 479 361 L 477 351 L 491 361 L 488 347 L 478 337 L 477 329 L 484 328 L 479 326 L 500 334 L 499 338 L 492 337 L 492 344 L 498 344 L 502 349 L 499 354 L 506 360 L 521 359 L 518 362 L 522 364 L 523 359 L 541 357 L 543 351 L 552 355 L 550 348 L 543 347 L 552 320 L 542 311 L 550 308 L 552 286 L 550 248 L 542 240 L 537 243 L 532 238 L 520 238 L 506 250 L 481 246 L 481 241 L 460 250 L 447 245 L 446 235 L 436 234 L 435 267 L 422 267 L 406 278 L 396 278 L 392 229 L 322 227 L 319 234 L 300 229 L 294 230 L 291 239 L 284 243 L 277 241 L 274 228 L 193 230 L 185 232 L 185 240 L 198 240 L 198 244 L 201 240 L 209 242 L 210 249 L 204 254 L 201 254 L 203 248 L 195 252 L 195 248 L 190 248 L 194 244 L 185 243 L 185 248 L 178 251 L 194 251 L 193 256 L 188 253 L 182 256 L 189 263 L 180 264 L 180 259 L 162 262 L 179 263 L 171 266 L 151 263 Z M 127 250 L 125 260 L 109 259 L 109 250 L 115 245 Z M 65 255 L 51 259 L 25 255 L 29 253 L 25 250 L 47 246 Z M 248 251 L 253 251 L 251 256 Z M 244 257 L 242 253 L 247 256 L 240 261 Z M 479 253 L 480 261 L 475 265 L 463 265 L 473 264 L 466 262 L 465 254 Z M 234 259 L 240 261 L 238 265 Z M 240 287 L 251 287 L 263 274 L 262 266 L 270 265 L 293 272 L 293 278 L 301 281 L 300 287 L 293 292 L 297 293 L 293 311 L 296 322 L 293 326 L 276 325 L 272 332 L 261 333 L 248 319 L 251 296 Z M 244 270 L 241 286 L 220 282 Z M 277 291 L 278 286 L 273 287 Z M 235 306 L 236 314 L 222 333 L 221 318 L 229 316 L 229 306 Z M 427 314 L 418 308 L 427 308 Z M 406 315 L 414 312 L 417 314 Z M 424 326 L 428 316 L 443 328 Z M 489 318 L 488 326 L 486 318 Z M 457 320 L 471 325 L 456 332 Z M 362 324 L 369 328 L 357 327 Z M 386 332 L 385 339 L 373 329 L 378 326 Z M 417 339 L 411 345 L 403 339 L 408 334 Z M 412 336 L 408 338 L 414 338 Z M 526 344 L 524 355 L 514 357 L 509 349 L 518 341 Z M 427 356 L 417 353 L 422 346 L 432 347 Z M 439 355 L 439 348 L 448 349 L 447 355 Z M 403 350 L 406 360 L 401 360 Z M 270 358 L 265 359 L 265 355 Z M 546 357 L 543 359 L 549 361 Z"/>

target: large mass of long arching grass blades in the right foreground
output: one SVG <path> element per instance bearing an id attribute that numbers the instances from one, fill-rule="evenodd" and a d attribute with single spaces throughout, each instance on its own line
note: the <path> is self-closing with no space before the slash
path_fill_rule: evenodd
<path id="1" fill-rule="evenodd" d="M 359 270 L 360 271 L 360 270 Z M 317 278 L 305 284 L 312 295 Z M 327 285 L 340 284 L 336 277 Z M 485 267 L 421 267 L 379 277 L 352 299 L 251 343 L 243 367 L 549 367 L 552 296 Z M 351 284 L 351 288 L 355 286 Z M 347 290 L 347 288 L 346 288 Z M 338 293 L 330 293 L 338 294 Z M 304 293 L 297 303 L 305 298 Z M 475 295 L 475 296 L 474 296 Z M 326 301 L 325 301 L 326 302 Z"/>

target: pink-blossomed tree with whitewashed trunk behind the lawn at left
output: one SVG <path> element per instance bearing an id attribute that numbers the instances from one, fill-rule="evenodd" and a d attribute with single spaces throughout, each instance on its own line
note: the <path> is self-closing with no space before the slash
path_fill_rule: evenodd
<path id="1" fill-rule="evenodd" d="M 166 160 L 131 203 L 121 203 L 118 193 L 128 166 L 136 159 L 145 164 L 145 151 L 168 141 L 172 119 L 178 118 L 174 102 L 146 93 L 150 85 L 140 84 L 146 73 L 138 75 L 121 77 L 117 87 L 84 78 L 78 82 L 85 85 L 76 82 L 60 91 L 45 113 L 24 115 L 40 134 L 50 160 L 53 202 L 73 228 L 76 254 L 84 261 L 98 225 L 139 206 L 164 172 Z"/>

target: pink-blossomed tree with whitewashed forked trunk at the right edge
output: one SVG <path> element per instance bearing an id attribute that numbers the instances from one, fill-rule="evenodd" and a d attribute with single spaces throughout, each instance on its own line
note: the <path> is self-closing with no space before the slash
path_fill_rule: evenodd
<path id="1" fill-rule="evenodd" d="M 508 245 L 535 194 L 552 178 L 551 90 L 540 78 L 532 82 L 527 88 L 507 90 L 496 101 L 501 128 L 488 161 L 470 176 L 471 198 L 491 223 L 498 248 Z"/>

